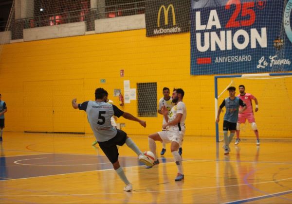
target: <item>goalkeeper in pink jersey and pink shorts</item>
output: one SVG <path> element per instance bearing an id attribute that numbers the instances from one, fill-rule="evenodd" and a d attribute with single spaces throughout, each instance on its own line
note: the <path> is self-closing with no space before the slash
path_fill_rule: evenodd
<path id="1" fill-rule="evenodd" d="M 247 108 L 245 111 L 243 111 L 241 114 L 238 114 L 238 120 L 237 120 L 237 131 L 236 131 L 236 140 L 235 145 L 237 145 L 240 142 L 239 133 L 240 133 L 240 124 L 245 123 L 246 119 L 251 124 L 252 129 L 255 132 L 256 135 L 256 145 L 259 145 L 259 137 L 258 137 L 258 130 L 256 127 L 256 121 L 254 117 L 254 111 L 253 111 L 253 103 L 252 100 L 255 100 L 256 102 L 256 109 L 255 111 L 258 111 L 258 103 L 256 97 L 254 97 L 252 94 L 245 93 L 245 87 L 244 85 L 239 85 L 239 93 L 237 97 L 241 99 L 243 102 L 245 102 Z M 242 108 L 242 107 L 240 107 Z"/>

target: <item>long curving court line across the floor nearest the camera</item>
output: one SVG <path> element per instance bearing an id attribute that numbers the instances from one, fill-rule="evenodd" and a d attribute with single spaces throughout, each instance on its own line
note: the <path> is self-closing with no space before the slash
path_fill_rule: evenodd
<path id="1" fill-rule="evenodd" d="M 274 183 L 279 181 L 290 180 L 291 178 L 279 179 L 273 181 L 249 183 L 249 184 L 238 184 L 238 185 L 227 185 L 227 186 L 213 186 L 213 187 L 194 187 L 194 188 L 184 188 L 184 189 L 171 189 L 171 190 L 150 190 L 150 191 L 132 191 L 131 193 L 158 193 L 158 192 L 172 192 L 172 191 L 186 191 L 186 190 L 199 190 L 199 189 L 211 189 L 211 188 L 222 188 L 222 187 L 238 187 L 238 186 L 247 186 L 255 184 L 267 184 Z M 52 194 L 52 195 L 0 195 L 0 197 L 48 197 L 48 196 L 90 196 L 90 195 L 117 195 L 117 194 L 127 194 L 128 192 L 121 193 L 85 193 L 85 194 Z"/>

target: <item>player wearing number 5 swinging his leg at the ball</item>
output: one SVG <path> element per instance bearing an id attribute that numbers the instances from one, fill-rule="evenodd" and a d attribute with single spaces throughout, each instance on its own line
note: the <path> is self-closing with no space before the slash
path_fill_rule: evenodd
<path id="1" fill-rule="evenodd" d="M 119 151 L 117 145 L 122 146 L 126 143 L 129 148 L 131 148 L 137 155 L 139 155 L 139 160 L 141 162 L 144 162 L 148 166 L 152 166 L 153 164 L 141 152 L 134 141 L 127 136 L 127 133 L 116 129 L 111 125 L 110 118 L 112 116 L 117 116 L 118 118 L 123 116 L 125 119 L 139 122 L 143 127 L 146 127 L 146 121 L 121 111 L 113 104 L 107 103 L 108 92 L 103 88 L 97 88 L 95 90 L 95 101 L 87 101 L 79 104 L 76 101 L 76 99 L 72 100 L 73 108 L 79 108 L 79 110 L 86 111 L 91 129 L 100 149 L 102 149 L 105 155 L 109 158 L 113 169 L 119 175 L 121 180 L 126 184 L 124 190 L 131 191 L 133 187 L 128 181 L 118 160 Z"/>

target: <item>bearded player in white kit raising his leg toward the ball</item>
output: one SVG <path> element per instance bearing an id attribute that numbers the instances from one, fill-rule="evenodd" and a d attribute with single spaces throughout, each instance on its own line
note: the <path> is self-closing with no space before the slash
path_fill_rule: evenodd
<path id="1" fill-rule="evenodd" d="M 178 168 L 178 174 L 177 177 L 175 178 L 175 181 L 181 181 L 182 179 L 184 179 L 182 157 L 178 153 L 178 149 L 182 144 L 185 132 L 184 121 L 186 118 L 186 108 L 183 102 L 183 95 L 184 95 L 183 89 L 181 88 L 173 89 L 172 102 L 175 103 L 175 106 L 171 108 L 169 114 L 165 106 L 163 106 L 161 110 L 166 120 L 166 123 L 163 124 L 162 128 L 166 130 L 148 136 L 149 149 L 152 153 L 154 153 L 155 158 L 156 158 L 155 141 L 171 143 L 170 151 L 174 157 L 174 161 Z M 154 165 L 156 164 L 159 164 L 158 159 L 154 162 Z"/>

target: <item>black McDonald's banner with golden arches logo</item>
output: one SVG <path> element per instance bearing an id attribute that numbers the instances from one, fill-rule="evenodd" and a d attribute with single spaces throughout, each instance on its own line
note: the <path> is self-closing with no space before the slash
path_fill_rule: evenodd
<path id="1" fill-rule="evenodd" d="M 146 36 L 189 32 L 190 8 L 190 0 L 147 1 Z"/>

